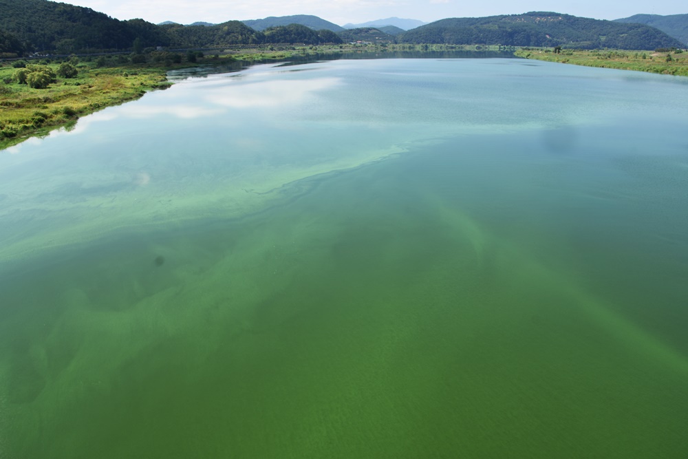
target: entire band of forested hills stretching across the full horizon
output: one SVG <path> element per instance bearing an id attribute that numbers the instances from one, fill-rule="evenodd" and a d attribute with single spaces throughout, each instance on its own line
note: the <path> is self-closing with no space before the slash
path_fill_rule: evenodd
<path id="1" fill-rule="evenodd" d="M 319 20 L 319 21 L 318 21 Z M 288 21 L 305 21 L 290 23 Z M 250 21 L 247 21 L 250 22 Z M 330 24 L 330 25 L 328 25 Z M 308 25 L 327 28 L 314 30 Z M 317 17 L 266 18 L 255 30 L 241 21 L 216 25 L 155 25 L 119 21 L 90 8 L 48 0 L 0 0 L 0 56 L 133 50 L 146 47 L 203 48 L 230 45 L 303 44 L 344 41 L 451 45 L 561 46 L 583 49 L 654 50 L 682 47 L 649 25 L 598 21 L 553 12 L 484 18 L 442 19 L 398 34 L 376 28 L 333 31 Z M 338 26 L 336 26 L 338 27 Z"/>

